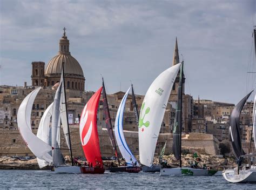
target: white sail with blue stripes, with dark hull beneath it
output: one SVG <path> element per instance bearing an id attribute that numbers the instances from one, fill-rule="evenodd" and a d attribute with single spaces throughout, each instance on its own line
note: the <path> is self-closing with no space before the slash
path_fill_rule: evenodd
<path id="1" fill-rule="evenodd" d="M 116 121 L 114 123 L 114 135 L 116 136 L 117 146 L 126 163 L 126 166 L 120 166 L 118 168 L 118 171 L 121 170 L 122 172 L 138 173 L 141 171 L 141 168 L 138 161 L 131 152 L 129 146 L 127 145 L 123 132 L 123 114 L 125 108 L 125 101 L 127 99 L 130 89 L 131 87 L 129 87 L 129 89 L 124 94 L 124 97 L 118 107 Z"/>

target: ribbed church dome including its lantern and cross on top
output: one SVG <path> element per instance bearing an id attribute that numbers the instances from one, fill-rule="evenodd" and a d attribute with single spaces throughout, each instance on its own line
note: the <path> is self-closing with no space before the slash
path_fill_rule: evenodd
<path id="1" fill-rule="evenodd" d="M 59 40 L 58 55 L 53 57 L 45 69 L 45 76 L 50 77 L 62 73 L 62 63 L 64 62 L 64 72 L 75 78 L 84 78 L 82 67 L 78 61 L 70 55 L 69 40 L 66 37 L 65 28 L 62 38 Z"/>

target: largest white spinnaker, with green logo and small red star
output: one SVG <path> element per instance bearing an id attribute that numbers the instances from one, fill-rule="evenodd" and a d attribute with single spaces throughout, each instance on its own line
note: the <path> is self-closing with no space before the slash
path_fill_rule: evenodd
<path id="1" fill-rule="evenodd" d="M 145 166 L 153 164 L 165 108 L 179 69 L 180 63 L 159 74 L 144 97 L 139 116 L 139 160 Z"/>

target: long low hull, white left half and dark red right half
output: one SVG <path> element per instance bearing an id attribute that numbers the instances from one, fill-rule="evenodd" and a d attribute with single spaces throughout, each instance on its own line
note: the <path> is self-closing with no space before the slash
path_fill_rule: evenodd
<path id="1" fill-rule="evenodd" d="M 54 168 L 55 173 L 87 173 L 87 174 L 102 174 L 104 168 L 86 167 L 86 166 L 59 166 Z"/>

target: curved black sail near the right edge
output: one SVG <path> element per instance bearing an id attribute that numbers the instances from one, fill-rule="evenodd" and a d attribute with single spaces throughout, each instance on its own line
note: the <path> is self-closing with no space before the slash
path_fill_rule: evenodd
<path id="1" fill-rule="evenodd" d="M 251 93 L 248 93 L 239 103 L 237 106 L 234 107 L 234 110 L 230 116 L 230 141 L 233 147 L 233 151 L 235 154 L 235 158 L 239 159 L 241 155 L 244 155 L 244 151 L 242 150 L 242 142 L 240 137 L 240 113 L 242 111 L 242 107 L 244 107 L 246 100 L 250 97 Z"/>

